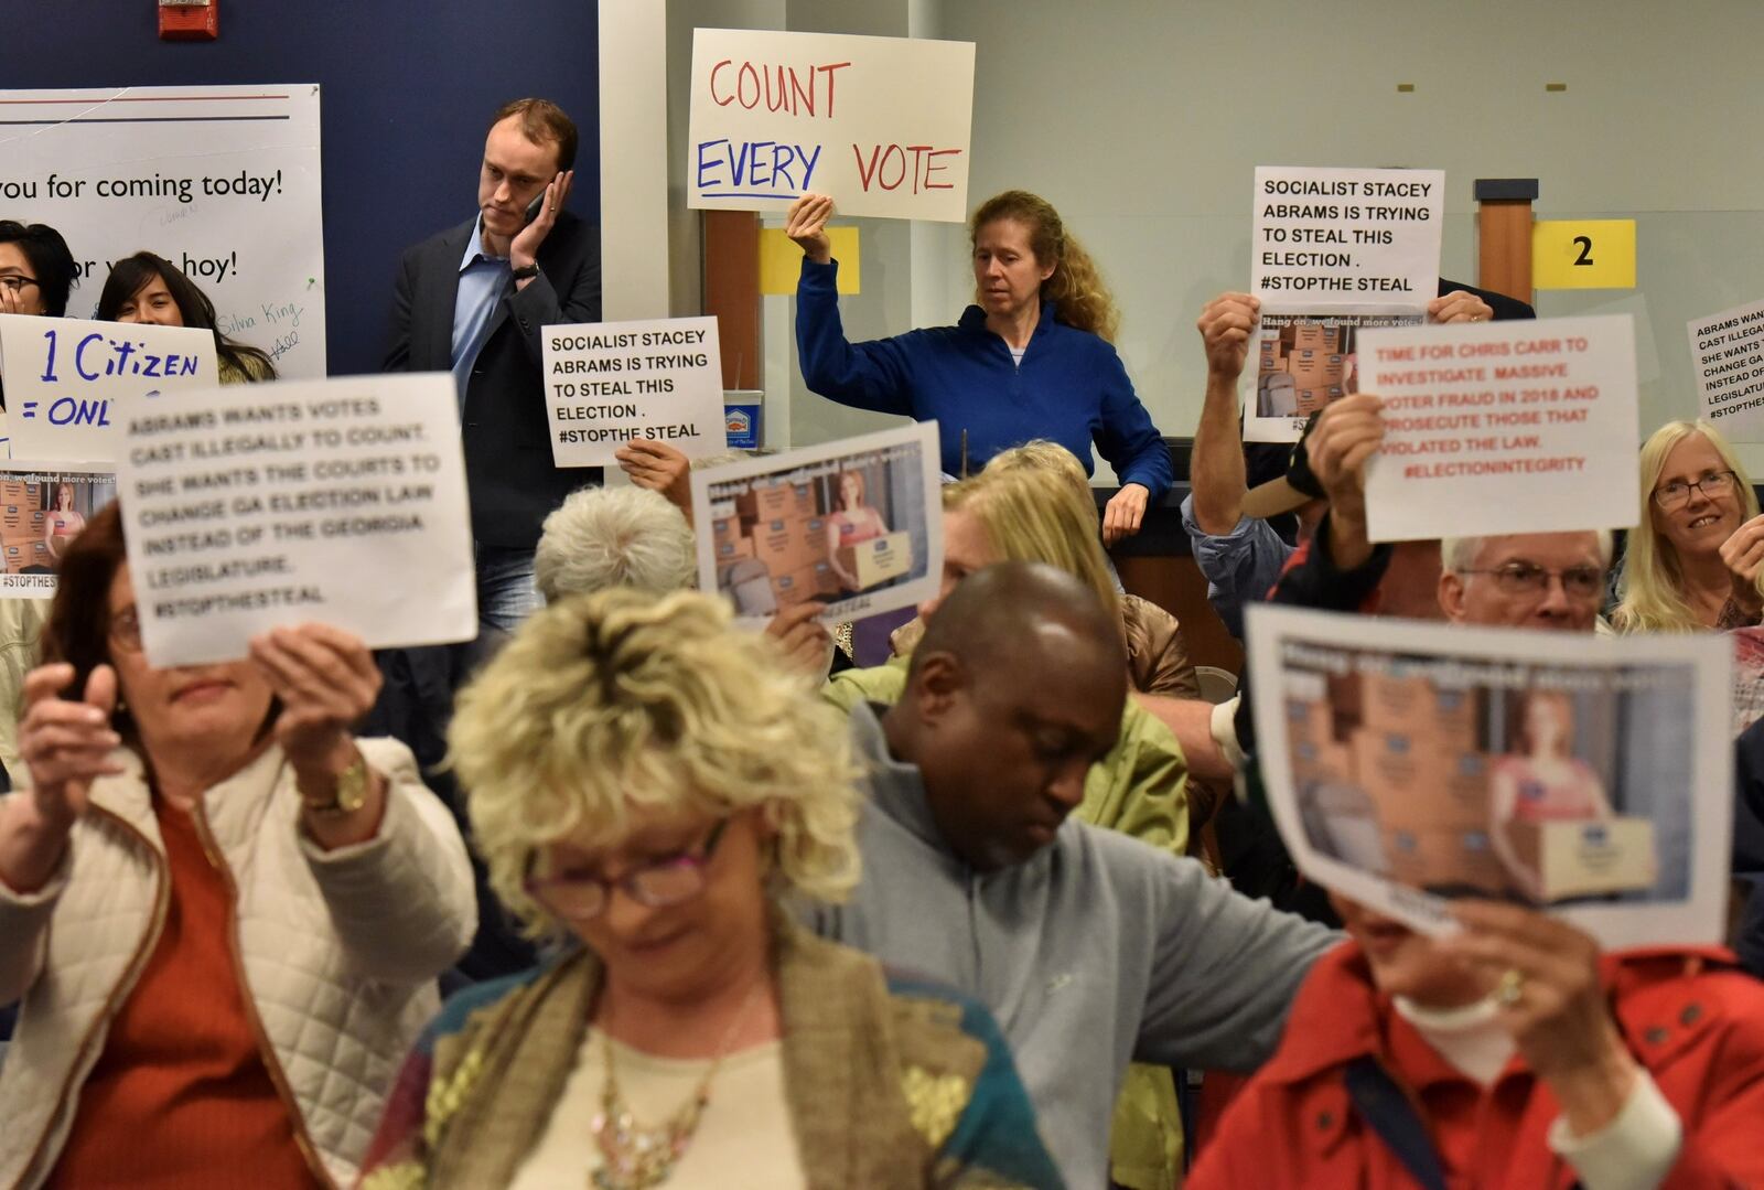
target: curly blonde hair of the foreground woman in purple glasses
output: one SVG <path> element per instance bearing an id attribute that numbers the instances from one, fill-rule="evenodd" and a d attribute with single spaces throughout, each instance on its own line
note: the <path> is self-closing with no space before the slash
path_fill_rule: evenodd
<path id="1" fill-rule="evenodd" d="M 633 807 L 764 807 L 773 892 L 857 885 L 841 717 L 709 595 L 614 588 L 533 614 L 460 692 L 448 745 L 490 886 L 534 938 L 566 930 L 527 895 L 533 855 L 579 832 L 614 842 Z"/>

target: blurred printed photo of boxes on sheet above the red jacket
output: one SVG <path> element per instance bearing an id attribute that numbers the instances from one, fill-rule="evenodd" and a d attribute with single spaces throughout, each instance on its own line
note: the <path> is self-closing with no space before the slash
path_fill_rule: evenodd
<path id="1" fill-rule="evenodd" d="M 1462 669 L 1344 650 L 1286 669 L 1305 837 L 1434 895 L 1681 900 L 1688 667 Z"/>

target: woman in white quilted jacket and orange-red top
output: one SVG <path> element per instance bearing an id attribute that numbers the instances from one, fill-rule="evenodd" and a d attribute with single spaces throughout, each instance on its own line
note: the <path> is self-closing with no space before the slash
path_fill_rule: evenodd
<path id="1" fill-rule="evenodd" d="M 325 625 L 155 669 L 116 505 L 62 561 L 0 800 L 0 1188 L 351 1185 L 476 925 L 453 819 Z"/>

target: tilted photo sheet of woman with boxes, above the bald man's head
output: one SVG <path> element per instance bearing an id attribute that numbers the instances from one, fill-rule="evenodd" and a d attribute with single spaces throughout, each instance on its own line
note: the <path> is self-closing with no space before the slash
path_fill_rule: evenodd
<path id="1" fill-rule="evenodd" d="M 937 422 L 691 473 L 699 590 L 746 627 L 783 607 L 822 620 L 914 607 L 944 570 Z"/>

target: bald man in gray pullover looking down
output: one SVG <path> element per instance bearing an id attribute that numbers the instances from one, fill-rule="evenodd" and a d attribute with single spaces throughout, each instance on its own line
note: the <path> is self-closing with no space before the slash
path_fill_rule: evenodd
<path id="1" fill-rule="evenodd" d="M 1252 1070 L 1323 927 L 1192 860 L 1067 817 L 1115 743 L 1120 627 L 1081 583 L 1002 563 L 931 618 L 893 708 L 857 706 L 864 877 L 820 934 L 984 1003 L 1069 1185 L 1108 1185 L 1131 1061 Z"/>

